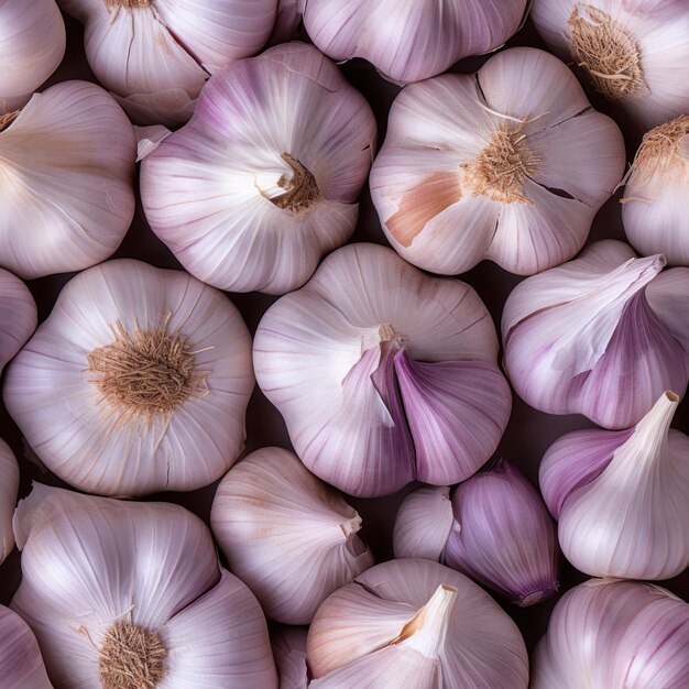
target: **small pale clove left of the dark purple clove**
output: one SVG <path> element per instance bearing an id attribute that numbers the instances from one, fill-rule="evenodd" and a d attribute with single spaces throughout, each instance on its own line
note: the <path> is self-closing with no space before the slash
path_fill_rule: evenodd
<path id="1" fill-rule="evenodd" d="M 427 485 L 411 492 L 395 518 L 395 557 L 419 557 L 440 562 L 453 520 L 447 485 Z"/>

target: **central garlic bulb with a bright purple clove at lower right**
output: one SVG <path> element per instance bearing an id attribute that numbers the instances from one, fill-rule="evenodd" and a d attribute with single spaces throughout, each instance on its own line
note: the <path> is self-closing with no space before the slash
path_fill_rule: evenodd
<path id="1" fill-rule="evenodd" d="M 306 467 L 376 496 L 461 481 L 493 453 L 512 406 L 496 354 L 471 287 L 350 244 L 267 309 L 253 357 Z"/>

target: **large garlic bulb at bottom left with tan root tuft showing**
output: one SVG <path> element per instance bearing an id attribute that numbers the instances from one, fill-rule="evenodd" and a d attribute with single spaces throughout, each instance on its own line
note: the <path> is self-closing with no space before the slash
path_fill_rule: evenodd
<path id="1" fill-rule="evenodd" d="M 261 606 L 190 512 L 34 484 L 14 534 L 11 608 L 56 687 L 276 689 Z"/>

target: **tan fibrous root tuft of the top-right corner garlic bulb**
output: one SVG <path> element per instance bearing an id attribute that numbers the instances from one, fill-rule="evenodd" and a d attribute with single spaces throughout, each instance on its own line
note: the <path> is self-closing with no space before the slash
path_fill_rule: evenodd
<path id="1" fill-rule="evenodd" d="M 635 41 L 610 14 L 579 4 L 567 23 L 572 57 L 587 70 L 597 91 L 609 100 L 620 100 L 648 90 Z"/>

